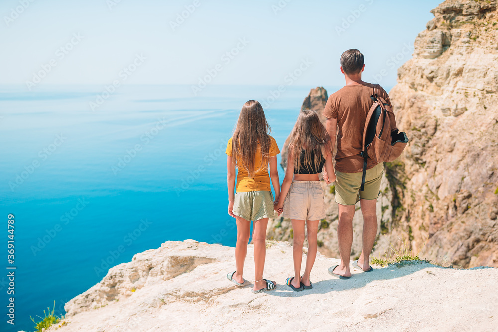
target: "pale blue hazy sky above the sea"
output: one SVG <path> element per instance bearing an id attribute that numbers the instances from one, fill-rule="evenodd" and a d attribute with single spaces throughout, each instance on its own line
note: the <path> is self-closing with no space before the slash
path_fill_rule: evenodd
<path id="1" fill-rule="evenodd" d="M 441 2 L 197 0 L 195 7 L 194 0 L 34 0 L 12 15 L 23 1 L 29 2 L 0 3 L 0 84 L 25 86 L 51 59 L 56 67 L 38 87 L 109 84 L 142 54 L 146 59 L 125 83 L 197 84 L 220 64 L 211 84 L 287 84 L 288 73 L 307 60 L 292 84 L 337 86 L 344 82 L 341 53 L 358 48 L 365 55 L 364 79 L 393 86 L 415 37 L 433 18 L 430 10 Z M 275 13 L 278 3 L 286 5 Z M 195 10 L 173 31 L 170 22 L 189 5 Z M 350 26 L 338 33 L 348 19 Z M 73 39 L 60 58 L 57 50 L 74 33 L 83 38 Z M 240 38 L 247 45 L 239 44 L 233 59 L 222 58 Z"/>

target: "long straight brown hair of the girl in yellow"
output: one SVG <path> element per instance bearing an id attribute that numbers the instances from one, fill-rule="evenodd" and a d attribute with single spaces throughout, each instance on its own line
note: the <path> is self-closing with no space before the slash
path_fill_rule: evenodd
<path id="1" fill-rule="evenodd" d="M 256 171 L 268 165 L 271 145 L 269 132 L 270 125 L 261 104 L 255 100 L 247 101 L 232 136 L 232 158 L 234 164 L 242 166 L 251 178 L 255 177 Z M 255 160 L 258 149 L 261 151 L 261 162 Z"/>

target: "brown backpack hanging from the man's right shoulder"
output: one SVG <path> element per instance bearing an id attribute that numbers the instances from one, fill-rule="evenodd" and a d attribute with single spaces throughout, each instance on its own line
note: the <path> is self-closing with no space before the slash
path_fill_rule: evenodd
<path id="1" fill-rule="evenodd" d="M 373 104 L 367 113 L 363 130 L 362 152 L 360 153 L 363 157 L 361 191 L 365 187 L 367 159 L 370 158 L 376 163 L 394 161 L 401 155 L 408 143 L 406 133 L 399 132 L 396 127 L 396 119 L 391 107 L 382 97 L 379 97 L 377 93 L 379 88 L 380 85 L 373 84 L 373 94 L 370 96 Z"/>

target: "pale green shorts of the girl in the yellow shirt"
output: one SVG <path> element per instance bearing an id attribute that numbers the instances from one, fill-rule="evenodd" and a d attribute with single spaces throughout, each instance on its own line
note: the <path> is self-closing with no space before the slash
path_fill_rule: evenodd
<path id="1" fill-rule="evenodd" d="M 235 193 L 232 212 L 248 221 L 273 218 L 273 193 L 266 190 Z"/>

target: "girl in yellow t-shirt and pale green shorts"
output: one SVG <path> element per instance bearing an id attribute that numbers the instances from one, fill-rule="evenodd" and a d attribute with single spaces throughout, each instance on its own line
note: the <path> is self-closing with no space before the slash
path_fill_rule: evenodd
<path id="1" fill-rule="evenodd" d="M 264 111 L 255 100 L 244 104 L 232 138 L 227 144 L 228 214 L 237 221 L 237 244 L 235 246 L 236 271 L 227 278 L 238 286 L 245 284 L 242 276 L 247 245 L 250 237 L 250 222 L 253 221 L 255 279 L 253 293 L 275 288 L 275 282 L 263 279 L 266 257 L 266 226 L 273 218 L 273 194 L 275 202 L 280 196 L 276 155 L 280 153 L 273 137 L 268 135 L 270 126 Z M 269 165 L 269 174 L 268 174 Z M 236 172 L 237 182 L 236 182 Z M 234 194 L 234 189 L 236 193 Z"/>

